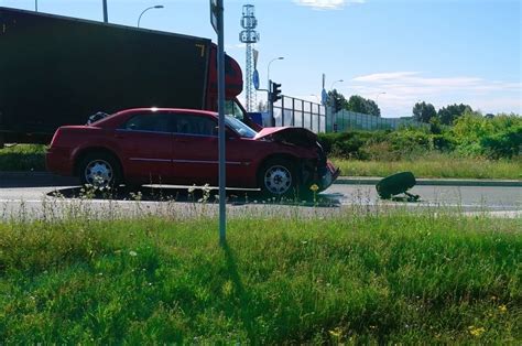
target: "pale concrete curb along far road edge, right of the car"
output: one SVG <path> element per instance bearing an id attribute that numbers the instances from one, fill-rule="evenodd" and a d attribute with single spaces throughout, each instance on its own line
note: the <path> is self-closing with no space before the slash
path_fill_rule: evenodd
<path id="1" fill-rule="evenodd" d="M 340 185 L 376 185 L 382 177 L 377 176 L 339 176 L 334 184 Z M 522 181 L 514 180 L 466 180 L 466 179 L 415 179 L 416 185 L 426 186 L 491 186 L 522 187 Z"/>

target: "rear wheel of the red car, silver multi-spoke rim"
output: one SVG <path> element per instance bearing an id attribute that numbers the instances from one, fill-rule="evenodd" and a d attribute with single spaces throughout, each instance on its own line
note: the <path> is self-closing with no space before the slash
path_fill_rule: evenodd
<path id="1" fill-rule="evenodd" d="M 96 188 L 117 187 L 121 181 L 120 164 L 111 154 L 89 153 L 79 164 L 79 180 Z"/>

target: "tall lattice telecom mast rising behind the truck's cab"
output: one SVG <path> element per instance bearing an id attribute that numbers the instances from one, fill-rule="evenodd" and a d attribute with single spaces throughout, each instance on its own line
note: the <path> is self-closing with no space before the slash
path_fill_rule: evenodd
<path id="1" fill-rule="evenodd" d="M 241 19 L 241 26 L 244 29 L 239 33 L 239 41 L 247 44 L 247 78 L 246 88 L 247 94 L 247 111 L 253 111 L 255 108 L 255 88 L 253 87 L 252 75 L 254 71 L 254 58 L 252 45 L 259 41 L 259 33 L 254 30 L 258 26 L 253 4 L 243 6 L 243 17 Z"/>

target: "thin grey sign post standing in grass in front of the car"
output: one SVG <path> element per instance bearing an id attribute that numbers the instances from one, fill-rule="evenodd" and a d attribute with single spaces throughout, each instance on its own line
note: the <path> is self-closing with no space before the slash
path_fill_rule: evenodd
<path id="1" fill-rule="evenodd" d="M 210 23 L 218 35 L 218 112 L 219 112 L 219 245 L 227 241 L 226 161 L 225 161 L 225 32 L 222 0 L 210 0 Z"/>

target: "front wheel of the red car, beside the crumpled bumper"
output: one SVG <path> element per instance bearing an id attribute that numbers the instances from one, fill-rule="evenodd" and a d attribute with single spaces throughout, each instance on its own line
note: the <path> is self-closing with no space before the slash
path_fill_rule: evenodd
<path id="1" fill-rule="evenodd" d="M 289 160 L 271 159 L 259 171 L 259 187 L 269 197 L 291 196 L 296 186 L 295 170 Z"/>

